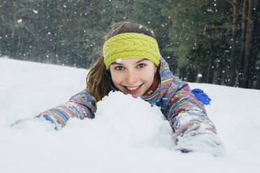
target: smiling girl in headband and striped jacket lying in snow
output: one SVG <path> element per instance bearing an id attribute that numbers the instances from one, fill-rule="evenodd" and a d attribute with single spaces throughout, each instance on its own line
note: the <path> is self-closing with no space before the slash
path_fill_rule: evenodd
<path id="1" fill-rule="evenodd" d="M 154 33 L 131 22 L 117 23 L 108 32 L 103 56 L 87 75 L 87 89 L 36 117 L 50 121 L 56 130 L 72 117 L 93 119 L 96 102 L 110 91 L 122 91 L 161 107 L 173 128 L 175 145 L 182 152 L 201 144 L 213 148 L 220 144 L 203 104 L 160 57 Z"/>

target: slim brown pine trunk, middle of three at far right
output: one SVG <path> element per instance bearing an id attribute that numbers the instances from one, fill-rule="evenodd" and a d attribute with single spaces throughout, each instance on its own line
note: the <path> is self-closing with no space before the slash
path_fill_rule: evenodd
<path id="1" fill-rule="evenodd" d="M 247 31 L 247 0 L 243 1 L 242 13 L 242 33 L 241 33 L 241 47 L 240 47 L 240 63 L 238 70 L 238 87 L 242 87 L 242 79 L 244 77 L 243 64 L 245 61 L 245 36 Z"/>

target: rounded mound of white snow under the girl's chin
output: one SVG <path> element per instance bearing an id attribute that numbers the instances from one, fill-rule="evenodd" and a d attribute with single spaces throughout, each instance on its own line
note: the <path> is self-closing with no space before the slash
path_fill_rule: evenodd
<path id="1" fill-rule="evenodd" d="M 110 92 L 97 104 L 94 121 L 99 128 L 106 128 L 110 139 L 118 140 L 115 144 L 173 146 L 173 132 L 159 107 L 120 91 Z"/>

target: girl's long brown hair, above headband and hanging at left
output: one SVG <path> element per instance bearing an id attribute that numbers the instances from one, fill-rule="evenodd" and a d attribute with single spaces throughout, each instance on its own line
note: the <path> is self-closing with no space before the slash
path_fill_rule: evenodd
<path id="1" fill-rule="evenodd" d="M 108 31 L 108 34 L 105 36 L 104 43 L 109 38 L 116 36 L 120 33 L 143 33 L 147 36 L 155 38 L 153 31 L 143 27 L 140 24 L 134 24 L 131 22 L 118 22 L 113 24 Z M 87 91 L 96 98 L 98 102 L 104 96 L 108 95 L 110 92 L 111 77 L 110 71 L 106 70 L 104 63 L 104 58 L 101 56 L 96 63 L 90 68 L 89 73 L 87 74 Z"/>

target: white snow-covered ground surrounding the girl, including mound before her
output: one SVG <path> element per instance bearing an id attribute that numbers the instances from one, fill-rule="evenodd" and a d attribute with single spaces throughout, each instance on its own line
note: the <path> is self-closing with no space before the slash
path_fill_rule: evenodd
<path id="1" fill-rule="evenodd" d="M 190 83 L 212 98 L 206 106 L 224 143 L 223 156 L 180 153 L 158 107 L 112 93 L 96 119 L 10 128 L 18 119 L 65 103 L 85 88 L 87 70 L 0 58 L 0 172 L 259 172 L 260 91 Z"/>

